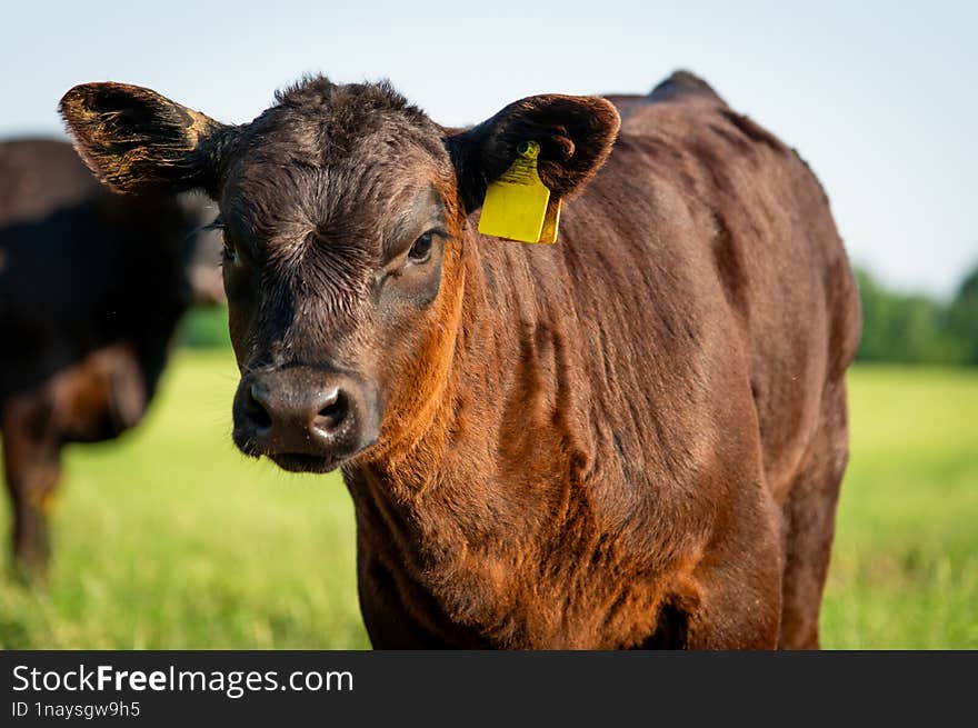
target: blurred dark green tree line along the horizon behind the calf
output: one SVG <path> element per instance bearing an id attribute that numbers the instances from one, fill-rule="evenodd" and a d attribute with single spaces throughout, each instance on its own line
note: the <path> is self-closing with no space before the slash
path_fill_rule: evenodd
<path id="1" fill-rule="evenodd" d="M 978 366 L 978 266 L 950 301 L 887 288 L 856 270 L 862 302 L 857 361 Z M 200 308 L 184 319 L 179 340 L 192 348 L 229 347 L 223 307 Z"/>

